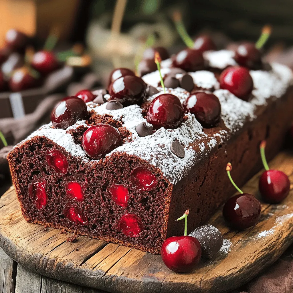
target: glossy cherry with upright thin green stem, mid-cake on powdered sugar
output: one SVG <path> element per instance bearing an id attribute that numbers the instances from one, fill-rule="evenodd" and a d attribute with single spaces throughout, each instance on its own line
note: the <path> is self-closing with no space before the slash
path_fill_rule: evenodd
<path id="1" fill-rule="evenodd" d="M 180 100 L 165 93 L 154 98 L 147 112 L 147 122 L 155 129 L 164 127 L 174 129 L 180 125 L 184 116 L 184 109 Z"/>

